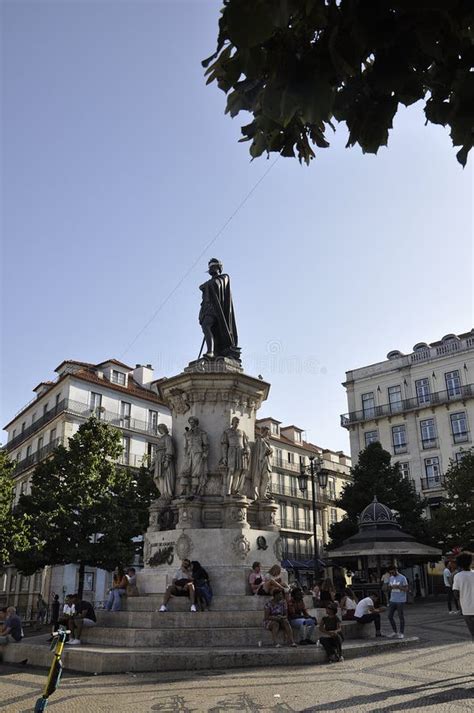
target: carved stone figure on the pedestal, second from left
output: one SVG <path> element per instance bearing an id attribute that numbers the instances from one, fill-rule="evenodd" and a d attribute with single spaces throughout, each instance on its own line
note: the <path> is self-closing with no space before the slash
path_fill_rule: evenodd
<path id="1" fill-rule="evenodd" d="M 184 434 L 184 464 L 180 474 L 181 495 L 201 495 L 207 482 L 207 433 L 199 427 L 199 419 L 191 416 Z"/>

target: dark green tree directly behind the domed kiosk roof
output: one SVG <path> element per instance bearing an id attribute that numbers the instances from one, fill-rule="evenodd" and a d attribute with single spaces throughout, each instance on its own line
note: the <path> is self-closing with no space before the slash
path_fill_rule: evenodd
<path id="1" fill-rule="evenodd" d="M 377 500 L 397 512 L 397 520 L 405 532 L 422 542 L 431 541 L 430 524 L 423 519 L 424 502 L 413 483 L 400 473 L 398 463 L 392 465 L 391 455 L 380 443 L 371 443 L 359 453 L 359 461 L 351 470 L 352 482 L 347 483 L 337 501 L 346 516 L 331 525 L 331 546 L 338 547 L 343 540 L 355 535 L 358 516 Z"/>

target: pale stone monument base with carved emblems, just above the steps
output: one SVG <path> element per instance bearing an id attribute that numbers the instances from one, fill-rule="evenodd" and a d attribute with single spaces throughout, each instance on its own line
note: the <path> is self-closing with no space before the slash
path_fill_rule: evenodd
<path id="1" fill-rule="evenodd" d="M 148 531 L 145 539 L 147 563 L 138 574 L 141 594 L 161 594 L 171 584 L 181 560 L 197 560 L 207 570 L 214 594 L 249 594 L 248 576 L 252 563 L 260 562 L 266 572 L 282 559 L 278 532 L 251 529 L 248 525 L 207 529 Z"/>

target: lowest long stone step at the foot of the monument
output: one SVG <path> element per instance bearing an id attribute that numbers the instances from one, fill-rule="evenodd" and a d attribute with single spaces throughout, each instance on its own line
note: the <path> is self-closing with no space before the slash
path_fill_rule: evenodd
<path id="1" fill-rule="evenodd" d="M 350 641 L 344 644 L 344 657 L 354 658 L 388 648 L 418 643 L 416 636 L 406 639 L 370 639 Z M 19 663 L 27 660 L 32 666 L 49 668 L 52 652 L 45 643 L 44 636 L 30 637 L 19 644 L 8 644 L 3 648 L 5 663 Z M 143 648 L 112 647 L 91 644 L 68 646 L 63 655 L 66 670 L 84 673 L 127 673 L 145 671 L 189 671 L 230 668 L 252 668 L 257 666 L 299 666 L 324 663 L 324 651 L 319 646 L 298 646 L 290 648 L 240 647 L 240 648 Z"/>

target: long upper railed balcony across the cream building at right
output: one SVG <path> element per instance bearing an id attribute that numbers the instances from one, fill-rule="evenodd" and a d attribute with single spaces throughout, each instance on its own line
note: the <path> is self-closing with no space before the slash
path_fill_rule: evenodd
<path id="1" fill-rule="evenodd" d="M 446 391 L 435 391 L 432 394 L 415 396 L 411 399 L 397 401 L 396 404 L 383 404 L 372 406 L 361 411 L 351 411 L 341 415 L 341 426 L 350 428 L 356 423 L 364 421 L 376 421 L 378 418 L 387 418 L 408 411 L 419 411 L 423 408 L 431 408 L 439 404 L 452 403 L 454 401 L 465 401 L 474 397 L 474 384 L 459 386 L 458 388 Z"/>

